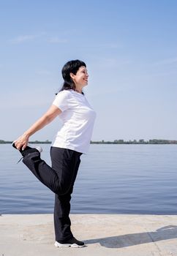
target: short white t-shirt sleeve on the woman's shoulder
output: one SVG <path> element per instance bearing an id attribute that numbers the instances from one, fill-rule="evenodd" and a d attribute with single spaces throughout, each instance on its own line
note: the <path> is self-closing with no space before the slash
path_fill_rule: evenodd
<path id="1" fill-rule="evenodd" d="M 56 95 L 56 99 L 53 100 L 53 105 L 58 107 L 61 111 L 67 110 L 69 99 L 69 91 L 60 91 L 59 94 Z"/>

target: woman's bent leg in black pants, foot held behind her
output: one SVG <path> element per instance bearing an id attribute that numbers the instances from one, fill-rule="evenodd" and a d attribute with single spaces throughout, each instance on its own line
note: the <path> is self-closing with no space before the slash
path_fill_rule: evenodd
<path id="1" fill-rule="evenodd" d="M 72 181 L 75 178 L 75 173 L 73 172 L 75 170 L 75 161 L 73 162 L 75 159 L 74 153 L 79 154 L 66 148 L 52 147 L 51 158 L 53 159 L 53 167 L 50 167 L 42 160 L 38 152 L 26 155 L 23 158 L 23 163 L 52 192 L 64 195 L 72 187 Z M 53 157 L 53 155 L 57 155 L 57 157 Z"/>

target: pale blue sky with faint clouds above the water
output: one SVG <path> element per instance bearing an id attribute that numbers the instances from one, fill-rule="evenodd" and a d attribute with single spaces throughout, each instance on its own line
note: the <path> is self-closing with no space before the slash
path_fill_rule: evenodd
<path id="1" fill-rule="evenodd" d="M 92 140 L 177 140 L 177 1 L 0 1 L 0 139 L 50 107 L 81 59 L 97 112 Z M 52 140 L 58 118 L 31 140 Z"/>

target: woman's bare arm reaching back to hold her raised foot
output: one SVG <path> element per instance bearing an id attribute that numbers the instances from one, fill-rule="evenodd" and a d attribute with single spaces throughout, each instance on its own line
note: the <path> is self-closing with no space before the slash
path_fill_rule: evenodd
<path id="1" fill-rule="evenodd" d="M 29 137 L 53 121 L 53 119 L 56 118 L 56 116 L 59 116 L 60 113 L 61 110 L 59 108 L 57 108 L 55 105 L 51 105 L 48 111 L 41 118 L 39 118 L 29 129 L 27 129 L 23 135 L 15 140 L 16 148 L 18 148 L 18 150 L 20 148 L 26 148 L 29 142 Z"/>

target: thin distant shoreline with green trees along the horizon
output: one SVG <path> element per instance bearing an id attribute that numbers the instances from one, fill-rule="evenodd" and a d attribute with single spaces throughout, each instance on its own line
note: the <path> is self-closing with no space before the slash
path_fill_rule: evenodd
<path id="1" fill-rule="evenodd" d="M 35 141 L 29 141 L 31 144 L 51 144 L 52 142 L 50 140 L 45 140 L 45 141 L 40 141 L 40 140 L 35 140 Z M 0 144 L 12 144 L 12 141 L 10 140 L 0 140 Z M 177 140 L 113 140 L 113 141 L 105 141 L 105 140 L 100 140 L 100 141 L 92 141 L 91 144 L 145 144 L 145 145 L 154 145 L 154 144 L 159 144 L 159 145 L 164 145 L 164 144 L 177 144 Z"/>

